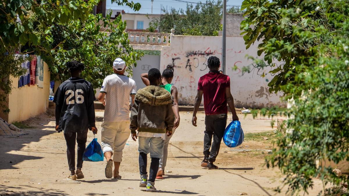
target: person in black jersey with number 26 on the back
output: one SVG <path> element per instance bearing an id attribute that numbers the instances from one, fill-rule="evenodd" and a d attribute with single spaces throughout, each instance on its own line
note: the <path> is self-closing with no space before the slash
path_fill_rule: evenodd
<path id="1" fill-rule="evenodd" d="M 87 132 L 97 133 L 95 125 L 95 93 L 91 83 L 80 78 L 85 66 L 79 61 L 68 61 L 66 67 L 71 77 L 64 81 L 56 93 L 56 130 L 63 131 L 67 143 L 67 159 L 70 175 L 68 179 L 84 178 L 81 172 L 82 156 L 86 149 Z M 75 140 L 77 142 L 77 164 L 75 172 Z"/>

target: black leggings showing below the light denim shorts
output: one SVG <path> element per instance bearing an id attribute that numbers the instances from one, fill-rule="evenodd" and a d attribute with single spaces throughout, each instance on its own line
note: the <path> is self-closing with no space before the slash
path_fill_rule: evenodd
<path id="1" fill-rule="evenodd" d="M 155 182 L 156 173 L 159 168 L 159 158 L 151 157 L 150 171 L 148 181 Z M 144 152 L 139 153 L 139 174 L 147 174 L 147 154 Z"/>

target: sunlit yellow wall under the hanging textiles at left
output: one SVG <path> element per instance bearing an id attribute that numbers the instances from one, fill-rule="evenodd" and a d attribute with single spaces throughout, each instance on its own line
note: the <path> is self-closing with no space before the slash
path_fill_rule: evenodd
<path id="1" fill-rule="evenodd" d="M 18 78 L 11 77 L 14 88 L 8 97 L 8 122 L 23 121 L 47 111 L 50 95 L 50 71 L 44 62 L 44 88 L 25 85 L 18 88 Z"/>

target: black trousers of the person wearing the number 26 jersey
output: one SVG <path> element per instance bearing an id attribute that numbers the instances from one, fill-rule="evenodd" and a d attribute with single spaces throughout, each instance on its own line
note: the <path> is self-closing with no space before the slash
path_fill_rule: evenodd
<path id="1" fill-rule="evenodd" d="M 70 171 L 75 171 L 75 139 L 77 142 L 77 168 L 82 168 L 82 156 L 86 149 L 87 131 L 84 132 L 68 132 L 64 134 L 67 142 L 67 158 Z M 77 136 L 76 136 L 77 135 Z"/>

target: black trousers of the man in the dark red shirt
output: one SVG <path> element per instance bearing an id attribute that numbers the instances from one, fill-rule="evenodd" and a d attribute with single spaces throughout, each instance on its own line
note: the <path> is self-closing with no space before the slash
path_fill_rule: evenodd
<path id="1" fill-rule="evenodd" d="M 205 155 L 205 157 L 209 157 L 209 161 L 214 162 L 216 161 L 224 130 L 227 126 L 227 114 L 206 115 L 205 125 L 206 130 L 205 136 L 203 137 L 203 154 Z"/>

